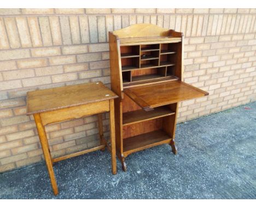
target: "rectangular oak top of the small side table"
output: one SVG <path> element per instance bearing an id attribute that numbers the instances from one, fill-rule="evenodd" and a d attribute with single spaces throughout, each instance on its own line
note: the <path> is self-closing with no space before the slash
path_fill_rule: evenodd
<path id="1" fill-rule="evenodd" d="M 27 115 L 115 99 L 118 96 L 102 82 L 27 92 Z"/>

